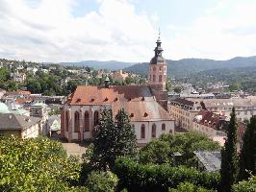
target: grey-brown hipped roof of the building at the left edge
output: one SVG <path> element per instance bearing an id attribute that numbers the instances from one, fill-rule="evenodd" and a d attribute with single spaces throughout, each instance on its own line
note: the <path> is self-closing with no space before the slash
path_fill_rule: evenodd
<path id="1" fill-rule="evenodd" d="M 0 113 L 0 130 L 26 130 L 40 121 L 38 117 Z"/>

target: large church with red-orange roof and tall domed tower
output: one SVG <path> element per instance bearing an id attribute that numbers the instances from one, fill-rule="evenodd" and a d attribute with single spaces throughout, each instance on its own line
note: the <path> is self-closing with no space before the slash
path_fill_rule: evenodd
<path id="1" fill-rule="evenodd" d="M 103 108 L 113 115 L 124 108 L 139 145 L 174 132 L 174 119 L 167 110 L 166 60 L 158 37 L 155 56 L 149 63 L 147 85 L 79 85 L 62 108 L 61 137 L 68 142 L 90 140 Z"/>

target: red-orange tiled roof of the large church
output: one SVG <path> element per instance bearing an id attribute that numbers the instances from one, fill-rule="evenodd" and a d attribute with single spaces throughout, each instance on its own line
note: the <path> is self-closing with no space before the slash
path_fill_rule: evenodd
<path id="1" fill-rule="evenodd" d="M 156 101 L 147 85 L 78 86 L 67 105 L 111 105 L 113 114 L 124 108 L 131 121 L 173 120 Z"/>

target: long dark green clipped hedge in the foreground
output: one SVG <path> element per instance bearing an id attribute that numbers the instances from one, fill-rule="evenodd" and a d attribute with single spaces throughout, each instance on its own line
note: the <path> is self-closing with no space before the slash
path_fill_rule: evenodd
<path id="1" fill-rule="evenodd" d="M 186 167 L 171 167 L 168 164 L 139 164 L 131 158 L 119 157 L 115 171 L 120 188 L 128 191 L 168 191 L 180 182 L 191 182 L 207 189 L 216 189 L 218 173 L 199 172 Z"/>

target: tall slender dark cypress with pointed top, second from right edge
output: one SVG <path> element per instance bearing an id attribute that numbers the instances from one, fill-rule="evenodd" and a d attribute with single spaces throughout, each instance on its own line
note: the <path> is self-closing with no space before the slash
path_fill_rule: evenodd
<path id="1" fill-rule="evenodd" d="M 218 191 L 230 192 L 232 184 L 237 178 L 237 122 L 235 108 L 232 108 L 230 122 L 227 129 L 227 140 L 221 150 L 220 181 Z"/>

